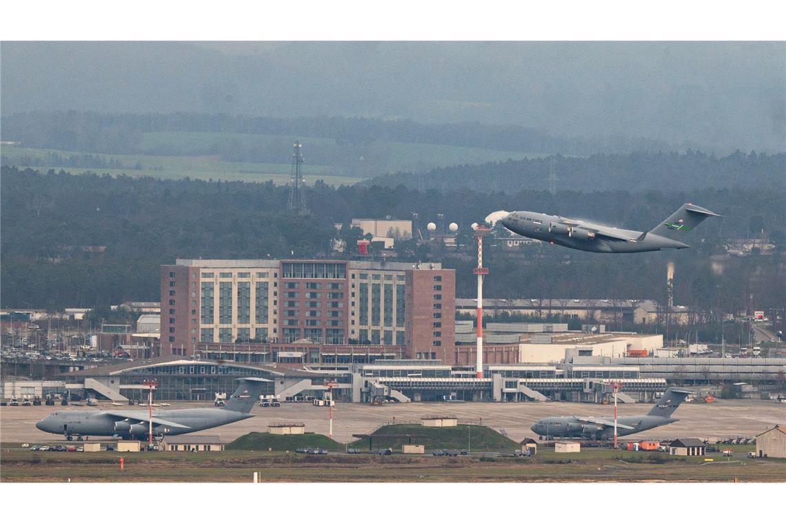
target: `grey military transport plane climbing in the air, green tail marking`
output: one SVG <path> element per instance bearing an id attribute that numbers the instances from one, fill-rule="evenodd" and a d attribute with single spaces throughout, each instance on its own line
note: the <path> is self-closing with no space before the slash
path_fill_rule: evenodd
<path id="1" fill-rule="evenodd" d="M 504 211 L 495 212 L 501 215 Z M 490 215 L 491 216 L 491 215 Z M 718 217 L 703 207 L 685 203 L 652 231 L 617 229 L 582 220 L 532 211 L 513 211 L 500 218 L 513 233 L 560 246 L 596 253 L 637 253 L 690 247 L 681 241 L 707 217 Z"/>

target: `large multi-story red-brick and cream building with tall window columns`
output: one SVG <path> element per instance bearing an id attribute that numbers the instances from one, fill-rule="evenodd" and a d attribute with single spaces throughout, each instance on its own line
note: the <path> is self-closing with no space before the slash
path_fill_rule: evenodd
<path id="1" fill-rule="evenodd" d="M 178 259 L 161 266 L 161 299 L 163 354 L 300 343 L 453 355 L 455 272 L 439 264 Z"/>

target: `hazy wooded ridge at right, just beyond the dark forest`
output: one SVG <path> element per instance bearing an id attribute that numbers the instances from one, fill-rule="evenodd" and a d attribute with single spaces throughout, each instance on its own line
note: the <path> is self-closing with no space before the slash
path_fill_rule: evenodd
<path id="1" fill-rule="evenodd" d="M 556 188 L 573 191 L 646 191 L 742 187 L 766 192 L 786 187 L 786 153 L 775 155 L 735 152 L 711 156 L 702 152 L 597 154 L 587 158 L 556 157 L 441 167 L 427 174 L 388 174 L 364 185 L 449 191 L 468 188 L 482 192 L 515 193 L 548 188 L 553 166 Z"/>

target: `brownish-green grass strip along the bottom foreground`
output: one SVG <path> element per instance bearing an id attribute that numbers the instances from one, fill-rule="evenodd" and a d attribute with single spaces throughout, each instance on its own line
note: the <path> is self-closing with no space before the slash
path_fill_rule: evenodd
<path id="1" fill-rule="evenodd" d="M 8 445 L 10 446 L 10 445 Z M 125 459 L 120 471 L 119 458 Z M 585 449 L 531 458 L 283 452 L 50 453 L 4 448 L 2 482 L 784 482 L 783 460 Z"/>

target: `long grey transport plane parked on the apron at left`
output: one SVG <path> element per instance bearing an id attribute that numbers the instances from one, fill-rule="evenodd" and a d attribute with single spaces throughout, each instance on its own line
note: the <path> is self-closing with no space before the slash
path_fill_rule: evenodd
<path id="1" fill-rule="evenodd" d="M 152 412 L 152 434 L 177 435 L 207 430 L 252 417 L 251 409 L 262 393 L 267 379 L 239 379 L 240 387 L 223 408 L 169 409 Z M 147 411 L 126 409 L 111 411 L 59 411 L 35 424 L 48 433 L 63 434 L 68 440 L 84 435 L 144 440 L 149 434 Z"/>

